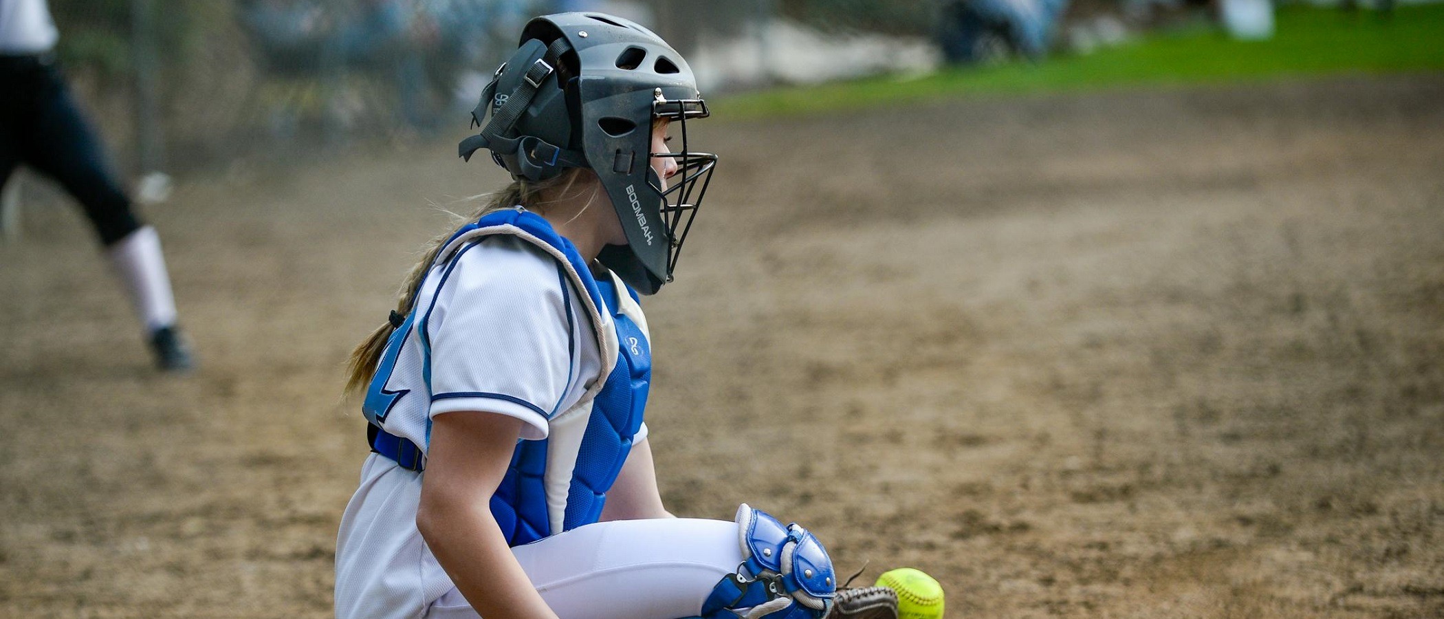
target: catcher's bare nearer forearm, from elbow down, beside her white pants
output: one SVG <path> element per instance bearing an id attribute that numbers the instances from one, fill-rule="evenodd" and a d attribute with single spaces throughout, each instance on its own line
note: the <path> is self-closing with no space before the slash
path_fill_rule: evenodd
<path id="1" fill-rule="evenodd" d="M 423 504 L 416 527 L 478 615 L 487 619 L 556 618 L 521 571 L 488 505 Z"/>

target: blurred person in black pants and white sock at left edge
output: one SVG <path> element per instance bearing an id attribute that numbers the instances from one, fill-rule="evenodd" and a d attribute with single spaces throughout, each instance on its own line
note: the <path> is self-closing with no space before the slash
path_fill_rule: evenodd
<path id="1" fill-rule="evenodd" d="M 160 237 L 136 214 L 101 141 L 55 63 L 59 32 L 45 0 L 0 0 L 0 186 L 26 164 L 84 208 L 140 315 L 156 364 L 186 371 L 195 358 L 176 326 Z"/>

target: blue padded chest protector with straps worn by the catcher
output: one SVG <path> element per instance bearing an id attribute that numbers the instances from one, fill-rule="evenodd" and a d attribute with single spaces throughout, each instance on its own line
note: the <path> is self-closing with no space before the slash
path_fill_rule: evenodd
<path id="1" fill-rule="evenodd" d="M 536 214 L 521 209 L 490 214 L 458 229 L 443 247 L 462 240 L 472 242 L 490 234 L 517 235 L 549 250 L 547 253 L 557 260 L 559 267 L 569 265 L 567 271 L 573 274 L 573 284 L 586 294 L 582 302 L 595 307 L 598 313 L 611 316 L 611 325 L 596 325 L 595 322 L 592 325 L 598 335 L 599 349 L 604 354 L 608 349 L 602 345 L 602 341 L 606 339 L 606 335 L 601 332 L 604 328 L 612 328 L 618 342 L 615 366 L 606 374 L 601 391 L 595 392 L 589 403 L 583 397 L 579 407 L 557 414 L 557 418 L 586 416 L 580 442 L 578 443 L 575 436 L 565 439 L 567 447 L 575 446 L 572 449 L 576 450 L 575 465 L 570 470 L 554 467 L 554 462 L 570 460 L 570 455 L 553 453 L 560 449 L 554 443 L 563 442 L 563 437 L 556 436 L 556 431 L 543 440 L 517 443 L 511 465 L 497 488 L 497 493 L 491 498 L 491 514 L 510 544 L 520 545 L 596 522 L 601 517 L 602 505 L 606 502 L 606 491 L 617 480 L 617 475 L 631 452 L 632 439 L 641 429 L 647 388 L 651 382 L 651 348 L 645 332 L 624 310 L 627 302 L 635 306 L 637 293 L 627 284 L 621 284 L 622 290 L 618 290 L 619 281 L 614 281 L 611 277 L 595 280 L 576 247 L 557 235 L 552 225 Z M 562 264 L 563 257 L 566 264 Z M 570 287 L 570 284 L 565 286 Z M 624 299 L 624 294 L 630 299 Z M 567 296 L 570 296 L 569 290 Z M 406 319 L 403 325 L 399 330 L 410 328 L 412 320 Z M 425 339 L 426 333 L 420 333 L 420 336 Z M 393 346 L 400 346 L 403 338 L 404 333 L 393 333 L 388 351 Z M 426 375 L 429 377 L 430 372 L 427 371 Z M 386 377 L 375 377 L 368 391 L 380 392 L 383 390 L 384 385 L 377 385 L 375 381 L 384 382 Z M 387 433 L 381 423 L 386 417 L 384 411 L 371 410 L 370 403 L 368 398 L 364 413 L 371 421 L 367 429 L 371 449 L 406 469 L 423 470 L 422 450 L 410 440 Z M 547 476 L 566 473 L 570 473 L 570 480 L 565 489 L 565 511 L 557 530 L 550 515 L 550 505 L 563 498 L 556 496 L 559 491 L 554 488 L 559 485 L 549 483 Z M 547 493 L 549 486 L 553 488 L 552 496 Z"/>

